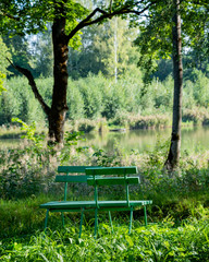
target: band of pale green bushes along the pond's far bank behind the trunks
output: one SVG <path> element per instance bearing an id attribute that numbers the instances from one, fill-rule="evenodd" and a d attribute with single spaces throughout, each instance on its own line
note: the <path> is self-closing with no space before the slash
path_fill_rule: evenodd
<path id="1" fill-rule="evenodd" d="M 194 123 L 197 121 L 207 123 L 206 108 L 209 99 L 207 86 L 209 81 L 200 71 L 194 70 L 194 82 L 185 81 L 184 83 L 183 120 L 193 120 L 188 116 L 188 111 L 193 111 L 193 115 L 196 115 L 197 118 L 194 119 Z M 40 78 L 36 82 L 44 99 L 50 105 L 52 78 Z M 25 79 L 8 80 L 7 90 L 8 92 L 2 93 L 0 96 L 1 124 L 11 123 L 11 119 L 17 117 L 26 123 L 36 121 L 44 126 L 44 112 Z M 106 79 L 102 74 L 90 74 L 86 79 L 76 81 L 70 80 L 66 119 L 71 121 L 86 118 L 95 120 L 103 117 L 113 124 L 130 124 L 132 128 L 165 127 L 171 122 L 169 116 L 173 103 L 172 90 L 173 80 L 171 76 L 168 76 L 162 82 L 158 79 L 152 80 L 149 85 L 144 86 L 143 74 L 136 68 L 133 68 L 132 72 L 124 74 L 116 83 L 114 80 Z M 88 122 L 87 126 L 95 126 L 94 129 L 99 130 L 96 122 L 94 123 L 91 120 L 84 121 L 86 121 L 84 126 Z M 140 122 L 136 124 L 136 121 Z M 81 130 L 87 131 L 87 126 Z"/>

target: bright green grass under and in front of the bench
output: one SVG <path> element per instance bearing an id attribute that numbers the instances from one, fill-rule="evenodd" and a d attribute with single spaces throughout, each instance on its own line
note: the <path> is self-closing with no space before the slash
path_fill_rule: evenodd
<path id="1" fill-rule="evenodd" d="M 59 213 L 50 214 L 50 228 L 45 234 L 45 211 L 38 205 L 52 200 L 50 195 L 1 201 L 0 260 L 208 261 L 209 209 L 200 203 L 205 196 L 199 193 L 197 199 L 194 194 L 176 203 L 168 199 L 167 204 L 165 201 L 160 206 L 153 204 L 148 209 L 151 223 L 147 227 L 143 224 L 143 213 L 136 211 L 131 235 L 128 214 L 112 214 L 112 234 L 107 215 L 100 213 L 97 239 L 94 239 L 94 214 L 85 215 L 81 239 L 79 214 L 65 214 L 65 228 Z"/>

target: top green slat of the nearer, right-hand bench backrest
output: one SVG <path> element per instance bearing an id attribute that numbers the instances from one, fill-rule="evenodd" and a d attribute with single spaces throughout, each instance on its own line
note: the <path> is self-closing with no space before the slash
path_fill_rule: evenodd
<path id="1" fill-rule="evenodd" d="M 87 167 L 86 175 L 131 175 L 137 174 L 136 167 Z"/>

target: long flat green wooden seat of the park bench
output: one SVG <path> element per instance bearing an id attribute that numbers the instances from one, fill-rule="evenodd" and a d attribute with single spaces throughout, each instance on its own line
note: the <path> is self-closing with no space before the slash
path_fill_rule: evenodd
<path id="1" fill-rule="evenodd" d="M 151 200 L 131 200 L 130 206 L 142 206 L 151 204 Z M 102 207 L 128 207 L 126 200 L 116 200 L 116 201 L 98 201 L 99 209 Z M 96 207 L 95 201 L 52 201 L 40 205 L 40 209 L 47 210 L 78 210 L 78 209 L 90 209 Z"/>

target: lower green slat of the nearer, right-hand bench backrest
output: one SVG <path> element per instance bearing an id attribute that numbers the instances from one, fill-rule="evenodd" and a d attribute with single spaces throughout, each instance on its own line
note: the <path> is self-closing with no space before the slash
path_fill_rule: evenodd
<path id="1" fill-rule="evenodd" d="M 113 186 L 113 184 L 137 184 L 139 183 L 139 178 L 138 177 L 103 177 L 103 178 L 87 178 L 87 183 L 89 186 Z"/>

